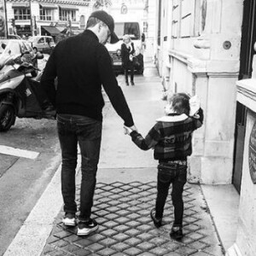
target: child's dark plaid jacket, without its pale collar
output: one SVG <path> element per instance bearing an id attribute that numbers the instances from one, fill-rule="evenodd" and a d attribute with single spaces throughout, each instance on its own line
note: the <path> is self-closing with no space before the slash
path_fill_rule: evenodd
<path id="1" fill-rule="evenodd" d="M 155 160 L 184 160 L 192 154 L 192 133 L 201 127 L 203 111 L 200 108 L 199 119 L 188 117 L 182 121 L 158 121 L 143 138 L 137 131 L 131 132 L 131 139 L 143 150 L 154 148 Z"/>

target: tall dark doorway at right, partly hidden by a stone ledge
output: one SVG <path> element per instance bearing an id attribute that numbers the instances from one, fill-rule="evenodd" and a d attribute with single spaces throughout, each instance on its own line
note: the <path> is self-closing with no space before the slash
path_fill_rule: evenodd
<path id="1" fill-rule="evenodd" d="M 241 51 L 240 51 L 240 71 L 238 79 L 250 79 L 253 72 L 253 46 L 256 42 L 256 0 L 245 0 L 243 2 L 243 19 L 241 26 Z M 233 180 L 236 190 L 240 194 L 241 190 L 241 169 L 243 158 L 243 147 L 245 137 L 246 112 L 241 103 L 236 103 L 236 130 L 235 130 L 235 150 Z"/>

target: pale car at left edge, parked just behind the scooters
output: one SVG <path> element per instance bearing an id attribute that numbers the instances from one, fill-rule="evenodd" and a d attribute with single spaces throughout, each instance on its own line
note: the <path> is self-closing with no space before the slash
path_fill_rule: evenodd
<path id="1" fill-rule="evenodd" d="M 10 57 L 18 57 L 21 55 L 26 58 L 26 62 L 32 63 L 33 66 L 38 67 L 38 60 L 35 58 L 36 53 L 26 40 L 0 39 L 0 70 Z M 37 72 L 32 73 L 32 76 L 36 75 Z"/>

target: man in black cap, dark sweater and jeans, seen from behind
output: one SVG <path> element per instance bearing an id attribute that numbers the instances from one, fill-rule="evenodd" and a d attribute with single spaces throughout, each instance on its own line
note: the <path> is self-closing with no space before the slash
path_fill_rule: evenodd
<path id="1" fill-rule="evenodd" d="M 76 224 L 75 169 L 77 144 L 82 164 L 78 235 L 86 236 L 98 228 L 90 218 L 96 186 L 96 171 L 102 140 L 102 86 L 125 125 L 136 130 L 125 96 L 113 73 L 106 44 L 119 39 L 113 32 L 112 16 L 93 12 L 84 32 L 66 38 L 55 46 L 41 79 L 41 85 L 57 112 L 61 144 L 61 192 L 64 201 L 63 223 Z M 55 90 L 55 78 L 58 79 Z"/>

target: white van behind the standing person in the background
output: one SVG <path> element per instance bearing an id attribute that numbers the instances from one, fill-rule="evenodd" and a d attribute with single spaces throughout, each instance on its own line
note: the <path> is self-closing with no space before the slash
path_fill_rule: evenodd
<path id="1" fill-rule="evenodd" d="M 122 58 L 121 58 L 121 44 L 123 44 L 123 36 L 128 34 L 134 44 L 134 48 L 137 56 L 137 65 L 135 71 L 139 74 L 143 74 L 144 62 L 143 62 L 143 49 L 142 49 L 142 37 L 143 33 L 140 30 L 138 22 L 132 21 L 120 21 L 114 23 L 114 32 L 119 37 L 119 42 L 116 44 L 106 44 L 109 54 L 113 60 L 113 69 L 115 73 L 123 73 Z"/>

